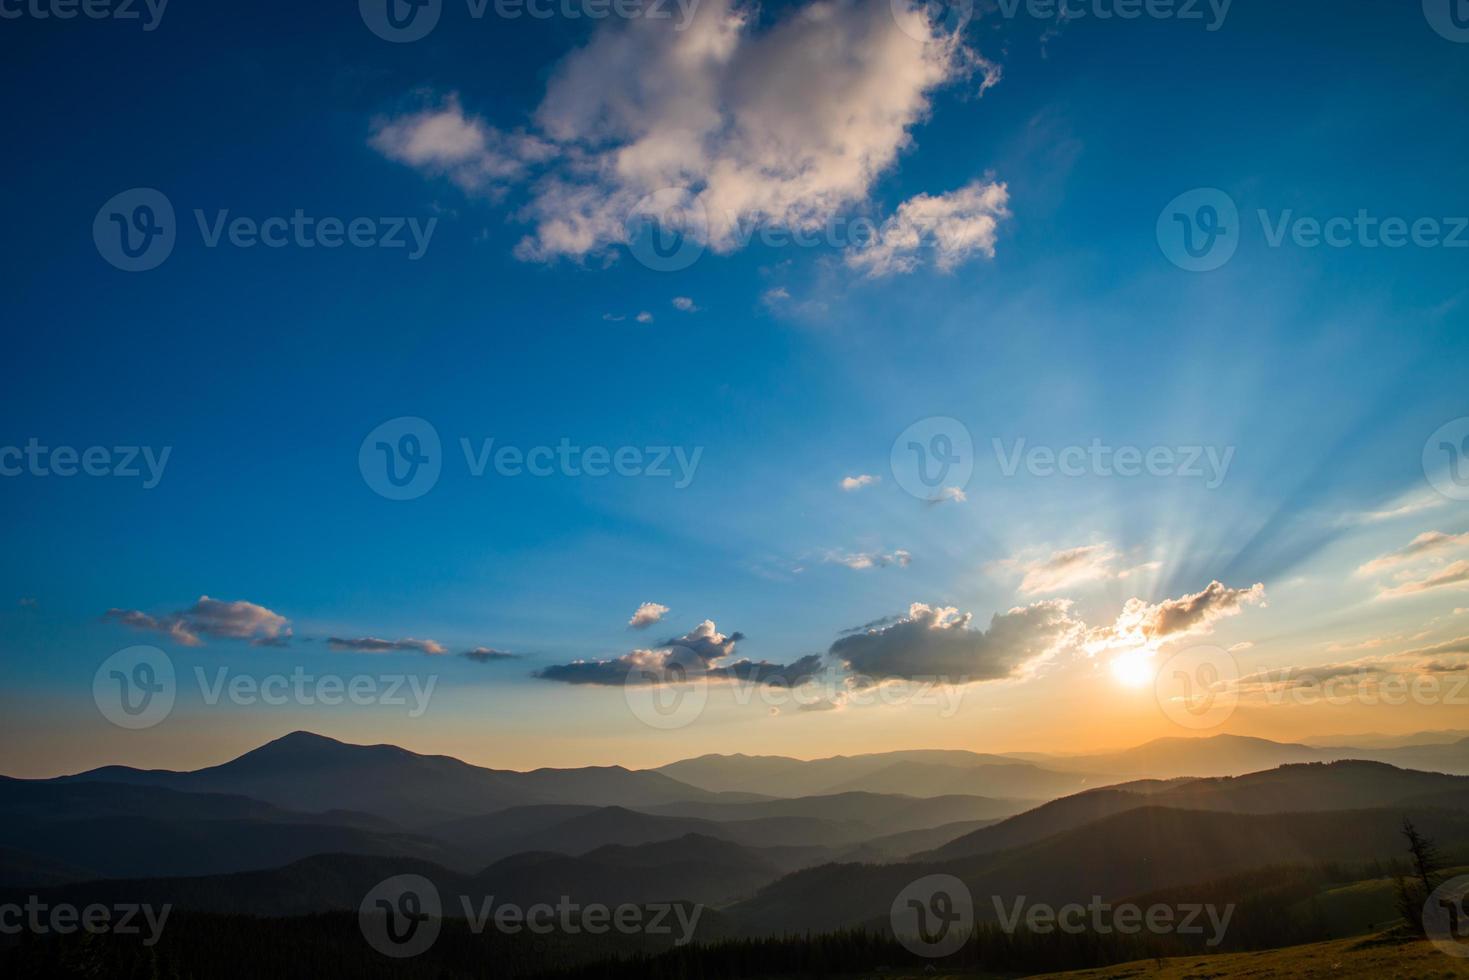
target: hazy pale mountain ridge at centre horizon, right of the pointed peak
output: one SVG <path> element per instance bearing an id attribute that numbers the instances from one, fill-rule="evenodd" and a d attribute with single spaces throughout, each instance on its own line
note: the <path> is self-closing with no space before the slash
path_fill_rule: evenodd
<path id="1" fill-rule="evenodd" d="M 1050 799 L 1094 786 L 1077 773 L 1058 773 L 1005 755 L 921 749 L 796 760 L 783 755 L 701 755 L 655 770 L 710 792 L 765 796 L 831 795 L 848 790 L 945 796 L 974 793 Z"/>

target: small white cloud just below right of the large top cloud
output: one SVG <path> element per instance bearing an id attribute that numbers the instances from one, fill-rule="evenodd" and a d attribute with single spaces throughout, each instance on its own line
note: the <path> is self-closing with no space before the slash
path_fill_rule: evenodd
<path id="1" fill-rule="evenodd" d="M 1008 188 L 992 181 L 936 197 L 920 194 L 903 201 L 867 245 L 849 250 L 846 264 L 876 279 L 912 272 L 925 256 L 940 272 L 953 272 L 975 254 L 993 259 L 1008 204 Z"/>

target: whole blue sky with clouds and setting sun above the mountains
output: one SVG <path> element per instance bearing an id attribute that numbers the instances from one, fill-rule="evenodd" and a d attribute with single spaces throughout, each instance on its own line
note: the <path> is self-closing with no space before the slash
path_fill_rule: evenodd
<path id="1" fill-rule="evenodd" d="M 1447 0 L 95 9 L 0 3 L 0 771 L 1469 729 Z"/>

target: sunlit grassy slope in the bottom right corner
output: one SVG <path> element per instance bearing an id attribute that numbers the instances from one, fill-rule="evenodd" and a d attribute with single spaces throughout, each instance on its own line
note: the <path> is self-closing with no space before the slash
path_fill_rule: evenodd
<path id="1" fill-rule="evenodd" d="M 1224 980 L 1227 977 L 1382 977 L 1431 980 L 1469 977 L 1469 958 L 1440 952 L 1423 940 L 1390 936 L 1343 939 L 1309 946 L 1290 946 L 1260 952 L 1221 954 L 1218 956 L 1180 956 L 1177 959 L 1124 962 L 1102 970 L 1047 974 L 1068 980 Z"/>

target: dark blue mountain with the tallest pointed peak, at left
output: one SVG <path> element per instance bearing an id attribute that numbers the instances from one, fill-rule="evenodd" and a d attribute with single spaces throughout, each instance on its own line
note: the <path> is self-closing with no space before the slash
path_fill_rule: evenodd
<path id="1" fill-rule="evenodd" d="M 188 773 L 109 765 L 60 782 L 238 793 L 303 811 L 357 810 L 405 827 L 529 804 L 658 805 L 718 799 L 655 771 L 621 767 L 491 770 L 395 745 L 350 745 L 294 732 L 222 765 Z"/>

